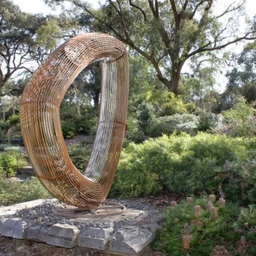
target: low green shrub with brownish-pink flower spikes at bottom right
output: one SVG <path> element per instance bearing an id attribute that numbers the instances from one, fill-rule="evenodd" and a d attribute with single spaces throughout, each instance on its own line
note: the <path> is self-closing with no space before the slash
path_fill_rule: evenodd
<path id="1" fill-rule="evenodd" d="M 181 201 L 166 208 L 153 248 L 165 255 L 205 256 L 222 246 L 229 255 L 255 255 L 255 216 L 254 206 L 240 209 L 207 197 Z"/>

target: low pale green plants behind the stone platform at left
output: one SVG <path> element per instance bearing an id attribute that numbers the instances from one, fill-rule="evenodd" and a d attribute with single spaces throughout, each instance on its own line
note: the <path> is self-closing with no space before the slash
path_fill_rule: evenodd
<path id="1" fill-rule="evenodd" d="M 9 206 L 15 203 L 49 197 L 51 195 L 36 177 L 22 183 L 0 180 L 0 205 Z"/>

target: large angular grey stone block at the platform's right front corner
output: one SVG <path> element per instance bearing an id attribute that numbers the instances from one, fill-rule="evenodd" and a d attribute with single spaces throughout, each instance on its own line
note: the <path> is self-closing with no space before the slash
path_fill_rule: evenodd
<path id="1" fill-rule="evenodd" d="M 134 225 L 120 228 L 109 241 L 109 250 L 113 252 L 137 254 L 154 240 L 158 224 Z"/>

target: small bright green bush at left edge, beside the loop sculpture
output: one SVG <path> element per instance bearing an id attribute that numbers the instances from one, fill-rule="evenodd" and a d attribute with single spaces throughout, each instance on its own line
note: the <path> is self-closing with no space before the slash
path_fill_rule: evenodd
<path id="1" fill-rule="evenodd" d="M 12 177 L 16 174 L 17 170 L 26 166 L 27 162 L 19 151 L 9 150 L 0 154 L 0 172 L 4 177 Z"/>

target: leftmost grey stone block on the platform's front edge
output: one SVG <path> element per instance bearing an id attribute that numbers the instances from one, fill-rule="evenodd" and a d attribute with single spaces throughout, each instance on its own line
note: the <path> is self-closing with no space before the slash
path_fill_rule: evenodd
<path id="1" fill-rule="evenodd" d="M 27 224 L 22 218 L 9 218 L 3 221 L 1 227 L 2 236 L 8 236 L 17 239 L 26 238 Z"/>

